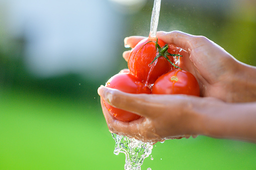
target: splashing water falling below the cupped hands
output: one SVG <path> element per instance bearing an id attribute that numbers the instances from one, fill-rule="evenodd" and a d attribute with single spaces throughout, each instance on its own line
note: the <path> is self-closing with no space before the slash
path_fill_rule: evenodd
<path id="1" fill-rule="evenodd" d="M 125 170 L 140 169 L 144 159 L 151 154 L 153 145 L 123 135 L 112 133 L 116 141 L 114 153 L 125 154 Z"/>

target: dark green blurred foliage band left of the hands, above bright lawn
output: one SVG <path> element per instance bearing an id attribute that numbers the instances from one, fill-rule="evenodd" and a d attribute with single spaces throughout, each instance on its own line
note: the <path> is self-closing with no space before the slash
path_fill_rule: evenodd
<path id="1" fill-rule="evenodd" d="M 19 43 L 18 43 L 19 42 Z M 17 46 L 24 46 L 24 41 L 18 41 Z M 18 57 L 15 57 L 18 55 Z M 23 53 L 20 51 L 9 54 L 0 54 L 0 85 L 7 89 L 20 89 L 40 91 L 53 96 L 70 98 L 74 101 L 95 101 L 98 97 L 96 87 L 100 81 L 84 79 L 77 74 L 67 74 L 60 77 L 38 78 L 30 74 L 23 61 Z M 94 103 L 95 104 L 95 103 Z"/>

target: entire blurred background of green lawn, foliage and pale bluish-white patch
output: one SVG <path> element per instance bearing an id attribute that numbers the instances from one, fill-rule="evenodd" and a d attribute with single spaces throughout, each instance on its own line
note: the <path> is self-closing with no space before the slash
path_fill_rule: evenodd
<path id="1" fill-rule="evenodd" d="M 153 1 L 0 1 L 0 169 L 123 169 L 97 89 Z M 158 31 L 213 40 L 256 66 L 255 1 L 162 0 Z M 214 59 L 213 59 L 214 60 Z M 255 169 L 253 143 L 199 136 L 153 147 L 142 169 Z"/>

